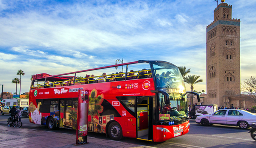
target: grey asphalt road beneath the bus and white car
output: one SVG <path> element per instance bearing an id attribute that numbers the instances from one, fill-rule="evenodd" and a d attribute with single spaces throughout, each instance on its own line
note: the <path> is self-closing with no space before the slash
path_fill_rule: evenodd
<path id="1" fill-rule="evenodd" d="M 0 116 L 0 125 L 7 126 L 6 121 L 8 117 L 9 116 L 7 115 Z M 22 128 L 41 130 L 48 132 L 49 134 L 52 132 L 49 132 L 45 126 L 30 124 L 28 118 L 22 118 L 22 122 Z M 128 145 L 130 144 L 130 147 L 136 147 L 140 145 L 144 147 L 149 146 L 155 148 L 255 148 L 256 141 L 252 140 L 248 131 L 249 130 L 242 130 L 234 126 L 201 126 L 196 124 L 194 121 L 190 121 L 190 131 L 188 134 L 167 140 L 166 142 L 156 143 L 136 140 L 133 138 L 124 138 L 123 140 L 119 141 L 119 143 L 120 145 L 124 143 Z M 54 133 L 75 135 L 74 130 L 68 129 L 55 130 Z M 113 141 L 109 138 L 106 138 L 104 134 L 89 133 L 88 142 L 90 142 L 92 139 L 94 142 L 104 141 L 109 144 L 111 143 L 111 145 L 113 144 Z M 105 146 L 107 143 L 105 143 Z M 111 147 L 111 145 L 109 146 Z M 104 146 L 99 147 L 103 148 Z"/>

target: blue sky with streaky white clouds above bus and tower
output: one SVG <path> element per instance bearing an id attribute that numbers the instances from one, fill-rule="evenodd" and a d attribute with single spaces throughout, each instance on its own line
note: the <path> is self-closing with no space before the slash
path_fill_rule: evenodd
<path id="1" fill-rule="evenodd" d="M 233 7 L 232 18 L 241 20 L 243 82 L 256 73 L 256 1 L 225 2 Z M 22 69 L 25 93 L 31 75 L 114 65 L 123 58 L 186 66 L 203 79 L 194 89 L 206 90 L 206 26 L 216 7 L 213 0 L 0 0 L 0 84 L 15 92 L 11 81 Z"/>

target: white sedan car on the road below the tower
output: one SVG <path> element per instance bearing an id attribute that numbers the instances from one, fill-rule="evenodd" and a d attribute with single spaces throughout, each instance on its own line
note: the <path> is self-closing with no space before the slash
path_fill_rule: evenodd
<path id="1" fill-rule="evenodd" d="M 256 115 L 241 109 L 220 109 L 213 114 L 197 116 L 196 123 L 203 126 L 212 124 L 239 126 L 246 129 L 250 124 L 256 123 Z"/>

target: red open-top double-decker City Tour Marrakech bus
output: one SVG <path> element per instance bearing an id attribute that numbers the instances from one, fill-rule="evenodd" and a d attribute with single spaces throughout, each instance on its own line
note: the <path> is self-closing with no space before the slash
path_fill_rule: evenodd
<path id="1" fill-rule="evenodd" d="M 89 91 L 89 132 L 163 142 L 189 131 L 186 93 L 194 92 L 186 92 L 178 67 L 165 61 L 32 75 L 29 121 L 76 129 L 79 89 Z"/>

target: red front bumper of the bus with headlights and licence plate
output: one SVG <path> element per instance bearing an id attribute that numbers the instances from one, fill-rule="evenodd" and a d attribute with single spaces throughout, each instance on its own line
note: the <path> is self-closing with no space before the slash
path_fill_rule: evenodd
<path id="1" fill-rule="evenodd" d="M 164 142 L 174 137 L 187 134 L 189 131 L 189 121 L 175 126 L 153 126 L 154 142 Z"/>

